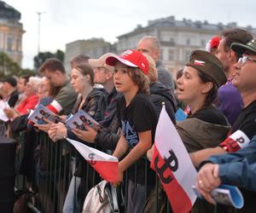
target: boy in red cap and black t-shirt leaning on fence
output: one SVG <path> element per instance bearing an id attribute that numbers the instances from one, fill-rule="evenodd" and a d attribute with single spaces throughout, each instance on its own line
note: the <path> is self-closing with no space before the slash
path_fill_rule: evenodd
<path id="1" fill-rule="evenodd" d="M 113 156 L 122 159 L 119 161 L 118 179 L 113 185 L 119 185 L 125 170 L 137 163 L 137 175 L 135 170 L 129 172 L 127 212 L 141 212 L 147 194 L 154 185 L 154 172 L 149 169 L 147 161 L 148 174 L 145 174 L 145 160 L 142 157 L 152 146 L 157 120 L 148 97 L 148 60 L 137 50 L 129 49 L 122 55 L 108 57 L 106 63 L 114 66 L 115 88 L 124 95 L 117 105 L 122 131 L 113 152 Z M 127 155 L 124 157 L 125 153 Z"/>

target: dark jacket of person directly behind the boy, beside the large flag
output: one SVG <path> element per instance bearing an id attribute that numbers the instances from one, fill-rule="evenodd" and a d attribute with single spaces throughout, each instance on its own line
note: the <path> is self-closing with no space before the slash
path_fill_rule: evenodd
<path id="1" fill-rule="evenodd" d="M 162 102 L 166 104 L 166 112 L 172 119 L 173 124 L 176 124 L 175 112 L 176 112 L 176 101 L 172 95 L 171 89 L 167 89 L 163 83 L 154 82 L 150 83 L 150 100 L 154 104 L 157 118 L 160 116 L 162 109 Z"/>

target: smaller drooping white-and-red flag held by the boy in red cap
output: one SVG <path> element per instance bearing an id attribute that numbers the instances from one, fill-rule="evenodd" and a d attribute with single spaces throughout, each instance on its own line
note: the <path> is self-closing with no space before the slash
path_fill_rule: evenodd
<path id="1" fill-rule="evenodd" d="M 88 164 L 90 164 L 102 178 L 106 181 L 114 182 L 118 176 L 118 158 L 113 157 L 107 153 L 88 147 L 79 141 L 74 141 L 67 138 L 69 141 L 84 157 Z"/>

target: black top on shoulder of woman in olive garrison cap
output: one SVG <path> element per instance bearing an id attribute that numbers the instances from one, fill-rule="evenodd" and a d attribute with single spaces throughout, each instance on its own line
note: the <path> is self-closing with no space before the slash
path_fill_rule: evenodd
<path id="1" fill-rule="evenodd" d="M 222 112 L 216 107 L 207 107 L 195 112 L 193 115 L 189 116 L 189 118 L 198 118 L 204 122 L 210 124 L 219 124 L 219 125 L 227 125 L 228 121 L 225 118 Z"/>

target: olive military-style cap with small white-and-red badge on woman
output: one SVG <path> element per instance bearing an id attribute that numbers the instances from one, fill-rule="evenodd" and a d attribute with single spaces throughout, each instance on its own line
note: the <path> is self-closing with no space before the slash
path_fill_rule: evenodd
<path id="1" fill-rule="evenodd" d="M 218 87 L 227 82 L 222 63 L 215 55 L 207 51 L 193 51 L 186 66 L 192 66 L 198 71 L 205 73 Z"/>

